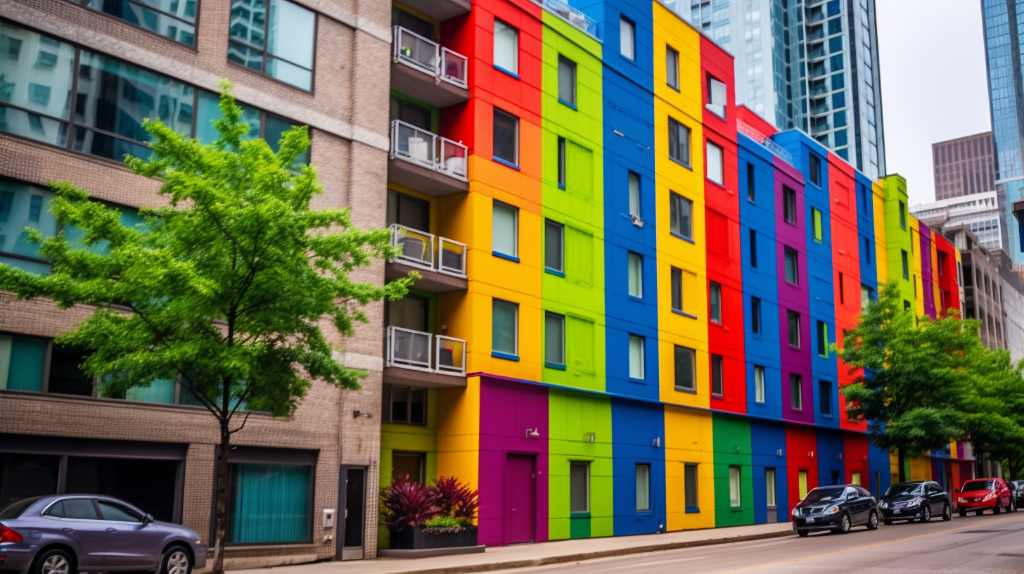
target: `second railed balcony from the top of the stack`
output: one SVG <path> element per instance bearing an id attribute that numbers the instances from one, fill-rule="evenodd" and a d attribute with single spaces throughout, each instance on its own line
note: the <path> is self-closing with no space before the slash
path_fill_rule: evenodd
<path id="1" fill-rule="evenodd" d="M 401 120 L 391 122 L 388 180 L 432 196 L 469 191 L 469 149 Z"/>

